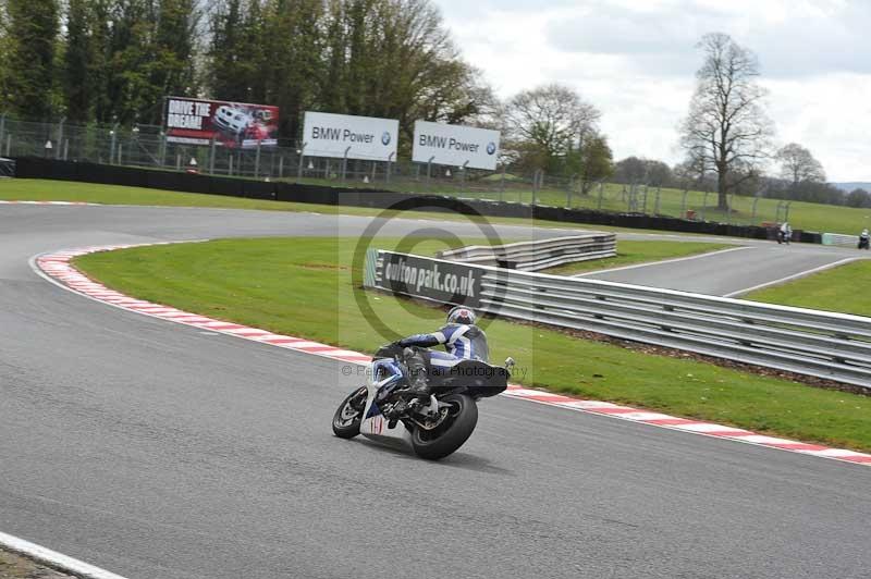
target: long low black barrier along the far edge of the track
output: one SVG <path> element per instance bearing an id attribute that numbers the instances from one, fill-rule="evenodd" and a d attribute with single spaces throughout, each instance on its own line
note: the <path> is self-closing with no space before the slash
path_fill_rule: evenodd
<path id="1" fill-rule="evenodd" d="M 16 174 L 19 177 L 23 178 L 53 178 L 108 185 L 127 185 L 184 193 L 203 193 L 303 204 L 369 207 L 376 209 L 402 208 L 420 211 L 458 211 L 462 213 L 478 213 L 487 217 L 535 218 L 565 223 L 703 233 L 708 235 L 752 237 L 757 239 L 764 239 L 768 235 L 764 227 L 729 225 L 709 221 L 689 221 L 662 215 L 609 213 L 586 209 L 530 206 L 483 199 L 461 199 L 457 197 L 439 195 L 414 195 L 378 189 L 328 187 L 300 183 L 267 183 L 263 181 L 189 174 L 179 171 L 157 171 L 132 167 L 78 163 L 36 157 L 20 157 L 16 159 Z M 819 234 L 809 234 L 807 232 L 802 233 L 801 241 L 820 243 Z"/>

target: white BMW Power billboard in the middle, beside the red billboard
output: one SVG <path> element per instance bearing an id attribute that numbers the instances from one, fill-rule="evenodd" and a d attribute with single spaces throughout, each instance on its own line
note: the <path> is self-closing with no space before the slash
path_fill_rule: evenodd
<path id="1" fill-rule="evenodd" d="M 400 122 L 394 119 L 306 111 L 303 130 L 309 157 L 395 161 Z"/>

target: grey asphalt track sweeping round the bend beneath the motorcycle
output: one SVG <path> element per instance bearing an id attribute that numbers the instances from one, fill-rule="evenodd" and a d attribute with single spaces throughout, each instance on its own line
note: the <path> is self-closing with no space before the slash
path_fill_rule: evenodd
<path id="1" fill-rule="evenodd" d="M 58 248 L 367 222 L 0 208 L 0 530 L 131 579 L 869 577 L 866 466 L 505 398 L 481 404 L 459 453 L 426 463 L 332 435 L 359 382 L 340 362 L 110 308 L 28 266 Z M 421 226 L 436 225 L 384 231 Z"/>

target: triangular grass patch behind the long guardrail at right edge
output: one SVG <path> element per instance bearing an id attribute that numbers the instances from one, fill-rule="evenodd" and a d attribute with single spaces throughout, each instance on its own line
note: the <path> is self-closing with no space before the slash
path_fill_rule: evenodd
<path id="1" fill-rule="evenodd" d="M 871 260 L 854 261 L 794 282 L 766 287 L 743 296 L 745 299 L 871 316 Z"/>

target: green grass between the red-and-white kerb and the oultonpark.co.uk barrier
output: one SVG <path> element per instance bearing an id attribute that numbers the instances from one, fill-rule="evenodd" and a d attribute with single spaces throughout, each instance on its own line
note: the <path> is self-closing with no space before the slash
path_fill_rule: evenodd
<path id="1" fill-rule="evenodd" d="M 373 313 L 400 334 L 441 323 L 440 309 L 354 287 L 356 244 L 347 238 L 216 241 L 95 254 L 76 264 L 144 299 L 364 352 L 395 334 L 373 330 L 358 299 L 368 300 Z M 395 241 L 377 245 L 391 248 Z M 431 252 L 440 245 L 427 242 L 415 250 Z M 523 384 L 871 451 L 867 397 L 639 354 L 553 330 L 488 322 L 493 359 L 515 357 L 515 378 Z"/>

